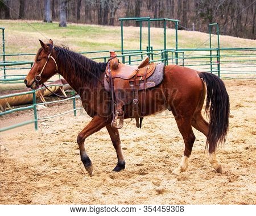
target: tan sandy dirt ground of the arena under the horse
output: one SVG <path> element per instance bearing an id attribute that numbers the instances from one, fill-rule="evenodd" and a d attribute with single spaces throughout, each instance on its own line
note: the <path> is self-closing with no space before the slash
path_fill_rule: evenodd
<path id="1" fill-rule="evenodd" d="M 141 130 L 126 120 L 120 130 L 125 171 L 117 163 L 106 129 L 86 140 L 94 164 L 89 177 L 80 161 L 77 134 L 90 121 L 79 111 L 0 134 L 1 204 L 256 204 L 256 81 L 225 80 L 230 95 L 230 126 L 218 148 L 224 172 L 216 173 L 204 152 L 205 137 L 194 130 L 188 171 L 171 172 L 183 155 L 183 139 L 170 112 L 146 117 Z M 69 109 L 71 102 L 39 111 L 39 116 Z M 32 113 L 0 119 L 23 120 Z M 129 124 L 128 124 L 129 123 Z M 128 124 L 128 125 L 127 125 Z"/>

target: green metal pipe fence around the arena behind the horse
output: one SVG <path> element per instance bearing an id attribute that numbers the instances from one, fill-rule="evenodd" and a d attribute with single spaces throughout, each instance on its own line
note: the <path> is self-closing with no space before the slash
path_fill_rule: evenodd
<path id="1" fill-rule="evenodd" d="M 119 59 L 122 59 L 122 62 L 130 65 L 138 65 L 139 61 L 142 61 L 143 57 L 146 55 L 150 56 L 151 62 L 163 62 L 166 65 L 168 64 L 178 64 L 185 67 L 189 67 L 192 69 L 196 69 L 199 71 L 205 71 L 217 74 L 221 78 L 256 78 L 256 48 L 221 48 L 220 47 L 220 37 L 219 37 L 219 27 L 218 23 L 209 24 L 209 47 L 207 48 L 179 48 L 179 40 L 178 40 L 178 25 L 179 20 L 174 19 L 151 19 L 150 17 L 144 18 L 121 18 L 119 19 L 121 22 L 121 50 L 117 50 Z M 140 28 L 140 39 L 139 39 L 139 49 L 138 50 L 129 50 L 124 48 L 124 34 L 123 34 L 123 23 L 129 20 L 133 20 L 135 22 L 139 22 Z M 164 28 L 164 42 L 162 49 L 154 49 L 152 47 L 151 38 L 150 38 L 150 26 L 151 22 L 163 22 Z M 142 23 L 147 23 L 147 47 L 142 48 Z M 175 26 L 175 47 L 167 48 L 167 22 L 174 23 Z M 30 59 L 31 56 L 35 56 L 33 53 L 18 53 L 18 54 L 6 54 L 5 53 L 5 28 L 1 28 L 2 30 L 2 44 L 3 44 L 3 53 L 2 61 L 0 61 L 0 72 L 2 72 L 2 76 L 0 76 L 0 84 L 2 83 L 15 83 L 21 82 L 24 79 L 26 74 L 22 73 L 9 73 L 9 71 L 22 71 L 25 69 L 30 69 L 33 61 L 7 61 L 6 57 L 18 57 L 22 56 L 26 59 Z M 216 29 L 214 32 L 213 29 Z M 212 35 L 217 35 L 217 47 L 212 47 Z M 80 52 L 82 55 L 86 55 L 87 57 L 91 57 L 91 59 L 96 61 L 106 62 L 109 59 L 109 51 L 94 51 L 94 52 Z M 99 55 L 95 57 L 96 53 Z M 24 67 L 24 65 L 28 65 Z M 27 73 L 27 72 L 26 72 Z M 73 112 L 76 116 L 76 111 L 82 109 L 81 107 L 76 107 L 76 98 L 72 97 L 68 99 L 72 99 L 73 101 L 73 109 L 69 111 L 65 111 L 64 113 L 52 115 L 49 117 L 38 117 L 36 107 L 38 105 L 44 105 L 49 103 L 56 103 L 67 101 L 68 99 L 63 99 L 60 101 L 51 101 L 47 103 L 36 103 L 36 91 L 32 90 L 30 92 L 25 93 L 17 93 L 11 95 L 0 96 L 0 99 L 6 97 L 13 97 L 15 95 L 25 95 L 25 94 L 33 94 L 33 103 L 32 105 L 19 107 L 12 110 L 7 110 L 3 113 L 0 113 L 0 117 L 3 115 L 7 115 L 10 113 L 14 113 L 20 110 L 34 110 L 34 119 L 30 121 L 22 122 L 19 124 L 14 124 L 13 126 L 0 128 L 0 132 L 9 130 L 11 128 L 15 128 L 18 126 L 23 126 L 25 124 L 34 123 L 35 130 L 38 130 L 38 121 L 42 119 L 48 119 L 57 117 L 59 115 L 64 115 L 67 113 Z"/>

